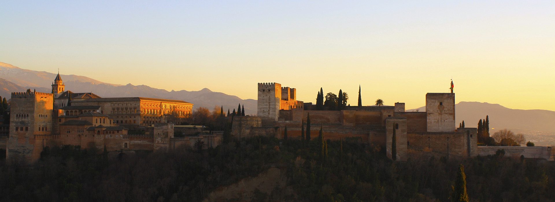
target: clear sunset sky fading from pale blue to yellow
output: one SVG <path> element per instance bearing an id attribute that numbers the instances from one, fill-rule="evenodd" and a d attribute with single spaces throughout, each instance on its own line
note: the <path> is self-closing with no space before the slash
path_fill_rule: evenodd
<path id="1" fill-rule="evenodd" d="M 555 111 L 555 1 L 1 1 L 0 61 L 166 90 Z"/>

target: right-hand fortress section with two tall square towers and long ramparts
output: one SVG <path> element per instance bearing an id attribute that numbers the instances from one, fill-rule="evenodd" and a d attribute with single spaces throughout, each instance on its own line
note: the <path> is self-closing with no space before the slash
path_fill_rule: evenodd
<path id="1" fill-rule="evenodd" d="M 341 111 L 317 111 L 311 103 L 296 100 L 296 89 L 278 83 L 258 84 L 258 116 L 236 116 L 232 135 L 299 137 L 310 115 L 312 136 L 320 127 L 325 139 L 358 138 L 379 145 L 391 158 L 396 141 L 397 159 L 411 155 L 477 156 L 476 128 L 455 128 L 455 94 L 426 94 L 426 112 L 406 112 L 405 103 L 395 106 L 346 106 Z M 392 139 L 395 132 L 396 138 Z"/>

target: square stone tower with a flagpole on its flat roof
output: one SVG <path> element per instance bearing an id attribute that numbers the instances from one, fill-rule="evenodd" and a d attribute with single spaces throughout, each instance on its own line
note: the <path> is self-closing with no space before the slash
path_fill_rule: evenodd
<path id="1" fill-rule="evenodd" d="M 428 132 L 455 131 L 455 94 L 427 93 L 426 117 Z"/>

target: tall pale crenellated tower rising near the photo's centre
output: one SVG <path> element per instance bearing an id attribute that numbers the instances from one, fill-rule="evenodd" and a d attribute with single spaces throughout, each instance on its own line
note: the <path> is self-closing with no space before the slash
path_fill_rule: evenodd
<path id="1" fill-rule="evenodd" d="M 278 121 L 281 84 L 258 83 L 258 116 L 263 120 Z"/>

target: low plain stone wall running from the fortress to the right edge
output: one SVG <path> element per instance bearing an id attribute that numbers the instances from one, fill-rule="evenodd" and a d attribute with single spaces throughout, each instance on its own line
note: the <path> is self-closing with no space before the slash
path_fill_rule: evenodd
<path id="1" fill-rule="evenodd" d="M 497 146 L 478 146 L 477 151 L 480 156 L 494 155 L 498 149 L 505 151 L 505 156 L 520 158 L 538 158 L 555 160 L 552 147 L 497 147 Z"/>

